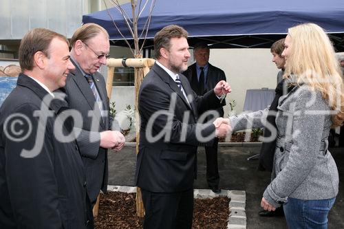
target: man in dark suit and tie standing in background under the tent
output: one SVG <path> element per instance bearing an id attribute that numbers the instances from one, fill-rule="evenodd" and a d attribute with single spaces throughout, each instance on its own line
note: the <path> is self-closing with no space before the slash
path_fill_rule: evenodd
<path id="1" fill-rule="evenodd" d="M 193 47 L 196 63 L 190 65 L 183 73 L 188 78 L 191 88 L 197 95 L 202 96 L 206 91 L 212 90 L 220 80 L 226 81 L 226 75 L 222 69 L 209 63 L 210 50 L 206 43 L 197 43 Z M 217 117 L 224 117 L 224 109 L 216 109 Z M 219 188 L 219 168 L 217 166 L 217 144 L 219 139 L 215 138 L 214 144 L 205 146 L 206 150 L 206 180 L 209 188 L 214 193 L 221 193 Z"/>

